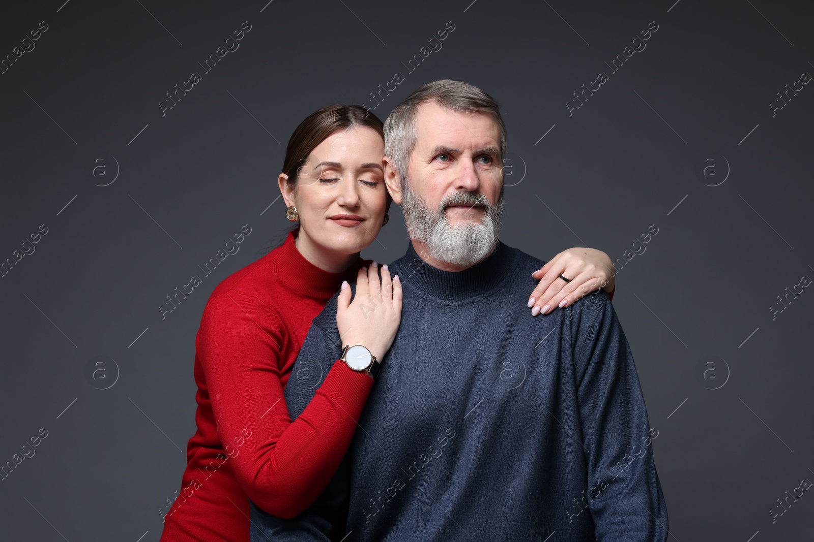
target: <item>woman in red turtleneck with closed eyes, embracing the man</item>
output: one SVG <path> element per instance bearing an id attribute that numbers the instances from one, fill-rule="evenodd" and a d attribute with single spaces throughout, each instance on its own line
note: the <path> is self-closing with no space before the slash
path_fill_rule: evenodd
<path id="1" fill-rule="evenodd" d="M 381 360 L 396 336 L 400 280 L 359 256 L 388 219 L 383 155 L 382 122 L 360 106 L 323 107 L 291 135 L 278 184 L 288 219 L 300 224 L 221 282 L 204 308 L 195 338 L 197 431 L 162 541 L 247 542 L 249 498 L 293 518 L 339 467 L 373 379 L 341 360 L 295 362 L 311 320 L 340 288 L 345 343 L 366 345 Z M 598 288 L 612 293 L 612 270 L 601 251 L 569 249 L 532 275 L 542 280 L 528 306 L 536 316 Z M 357 293 L 382 293 L 372 316 L 365 296 L 351 299 L 345 281 L 354 279 Z M 321 382 L 291 422 L 285 386 Z"/>

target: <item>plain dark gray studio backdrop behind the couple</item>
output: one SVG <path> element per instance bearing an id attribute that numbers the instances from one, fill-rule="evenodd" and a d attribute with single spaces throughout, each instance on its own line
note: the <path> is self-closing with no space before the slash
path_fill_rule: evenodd
<path id="1" fill-rule="evenodd" d="M 2 57 L 49 28 L 0 75 L 0 261 L 48 228 L 0 279 L 0 464 L 48 436 L 0 482 L 0 538 L 159 539 L 195 431 L 200 315 L 286 232 L 276 177 L 291 131 L 406 74 L 452 21 L 374 112 L 440 78 L 497 98 L 512 184 L 501 238 L 540 258 L 589 245 L 616 260 L 655 224 L 614 306 L 659 431 L 671 540 L 810 540 L 814 496 L 770 513 L 814 480 L 814 293 L 770 309 L 814 277 L 814 90 L 769 106 L 814 73 L 804 2 L 267 1 L 2 7 Z M 162 117 L 165 93 L 243 21 L 239 50 Z M 650 21 L 646 50 L 610 73 Z M 601 71 L 610 80 L 569 116 Z M 403 254 L 391 215 L 365 256 Z M 164 297 L 246 223 L 239 253 L 162 320 Z M 109 359 L 94 381 L 96 356 Z"/>

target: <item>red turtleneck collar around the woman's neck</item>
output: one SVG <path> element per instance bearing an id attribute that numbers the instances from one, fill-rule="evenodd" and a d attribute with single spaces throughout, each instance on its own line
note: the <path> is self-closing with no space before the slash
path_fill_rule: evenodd
<path id="1" fill-rule="evenodd" d="M 329 300 L 339 291 L 343 280 L 356 279 L 363 260 L 358 258 L 343 273 L 331 273 L 309 262 L 297 249 L 294 241 L 299 228 L 288 232 L 286 241 L 266 256 L 269 270 L 284 286 L 305 297 Z"/>

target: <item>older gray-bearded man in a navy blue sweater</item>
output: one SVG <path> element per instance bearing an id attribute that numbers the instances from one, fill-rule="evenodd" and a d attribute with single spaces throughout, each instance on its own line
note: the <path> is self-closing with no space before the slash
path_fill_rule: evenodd
<path id="1" fill-rule="evenodd" d="M 410 236 L 390 266 L 400 330 L 326 492 L 292 520 L 252 508 L 252 540 L 327 540 L 324 516 L 343 503 L 347 540 L 666 540 L 654 435 L 607 294 L 534 318 L 543 262 L 498 241 L 497 103 L 459 81 L 424 85 L 387 118 L 385 145 Z M 334 298 L 298 362 L 353 346 L 335 314 Z M 314 393 L 293 384 L 292 417 Z"/>

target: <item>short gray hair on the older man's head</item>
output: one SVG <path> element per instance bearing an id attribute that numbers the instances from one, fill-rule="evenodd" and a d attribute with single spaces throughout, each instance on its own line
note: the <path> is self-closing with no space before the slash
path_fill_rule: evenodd
<path id="1" fill-rule="evenodd" d="M 506 127 L 501 111 L 494 98 L 483 90 L 463 81 L 442 79 L 422 85 L 410 94 L 387 116 L 384 121 L 384 154 L 396 163 L 401 183 L 407 180 L 409 155 L 415 148 L 418 132 L 415 128 L 415 115 L 418 106 L 424 102 L 436 102 L 438 105 L 461 111 L 462 113 L 488 113 L 497 121 L 501 130 L 500 151 L 502 160 L 505 155 Z"/>

